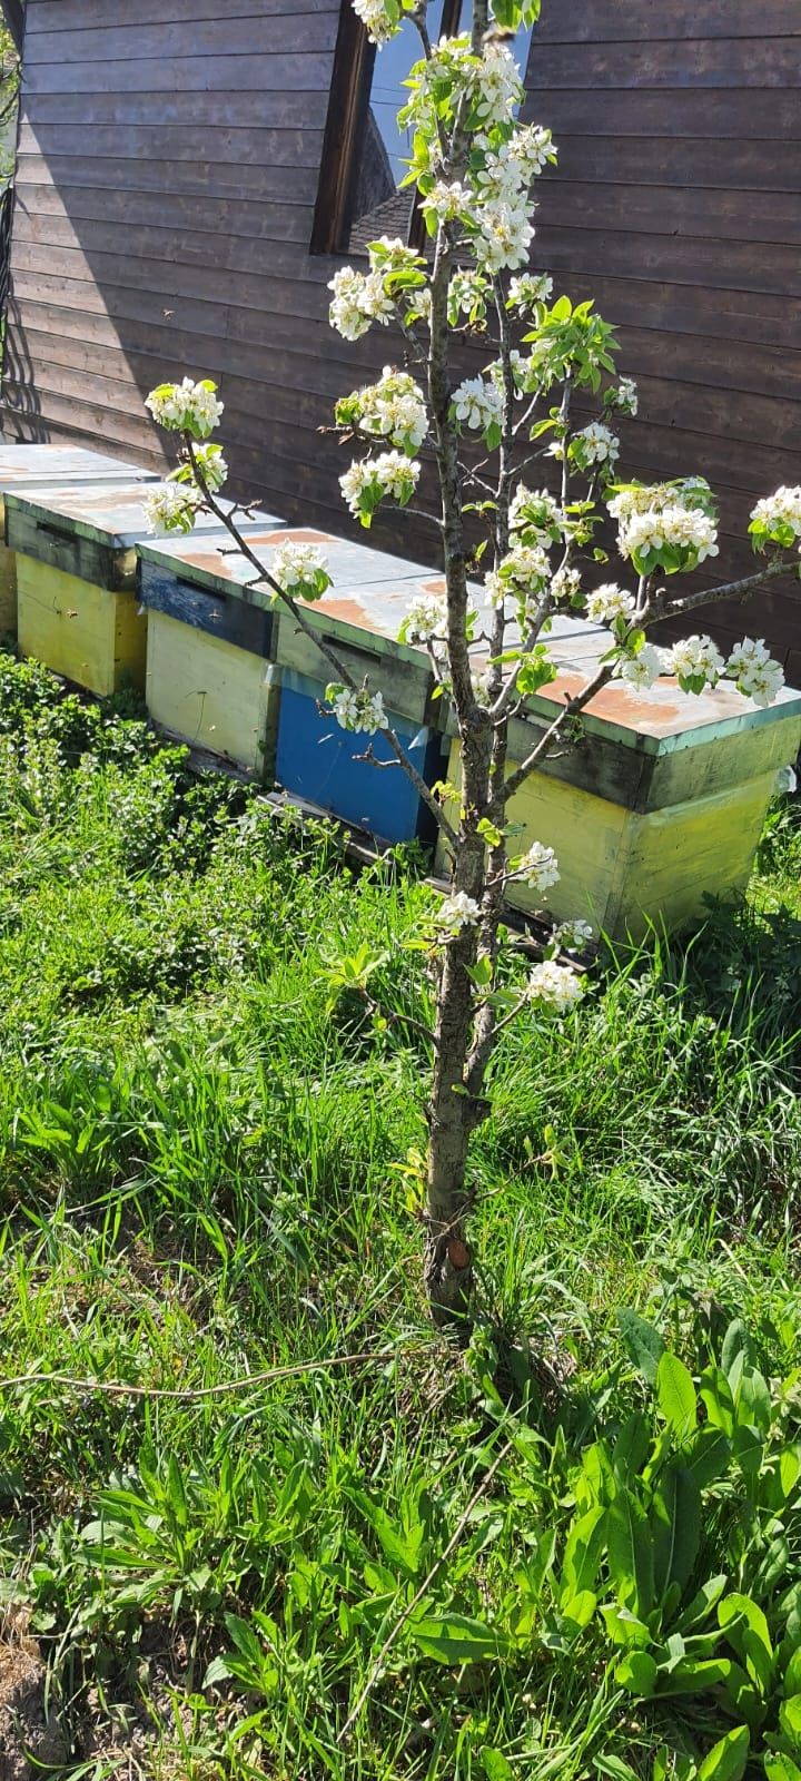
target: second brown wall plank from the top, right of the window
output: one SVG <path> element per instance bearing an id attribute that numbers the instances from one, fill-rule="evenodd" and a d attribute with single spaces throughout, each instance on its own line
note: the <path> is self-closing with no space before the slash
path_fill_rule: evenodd
<path id="1" fill-rule="evenodd" d="M 548 93 L 566 89 L 616 91 L 648 87 L 680 91 L 716 87 L 801 87 L 799 36 L 703 37 L 643 43 L 593 43 L 580 53 L 575 43 L 534 43 L 529 80 Z"/>

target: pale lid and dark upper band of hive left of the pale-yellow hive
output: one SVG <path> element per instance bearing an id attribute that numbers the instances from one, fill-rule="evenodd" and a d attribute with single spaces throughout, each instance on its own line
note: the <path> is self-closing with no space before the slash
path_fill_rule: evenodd
<path id="1" fill-rule="evenodd" d="M 9 547 L 94 588 L 130 591 L 139 581 L 137 547 L 151 536 L 144 493 L 141 483 L 132 481 L 114 486 L 16 488 L 5 500 Z M 231 502 L 224 506 L 230 508 Z M 272 513 L 242 520 L 246 531 L 274 531 L 281 524 Z M 215 515 L 198 516 L 196 534 L 203 533 L 219 533 Z"/>

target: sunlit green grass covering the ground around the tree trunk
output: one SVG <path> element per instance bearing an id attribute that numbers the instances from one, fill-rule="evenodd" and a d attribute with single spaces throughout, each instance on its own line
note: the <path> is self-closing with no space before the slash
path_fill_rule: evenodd
<path id="1" fill-rule="evenodd" d="M 726 1731 L 716 1697 L 634 1704 L 593 1628 L 538 1608 L 513 1656 L 497 1630 L 587 1443 L 659 1419 L 621 1309 L 694 1375 L 742 1318 L 797 1437 L 799 869 L 785 805 L 742 908 L 509 1031 L 454 1354 L 418 1289 L 415 858 L 356 874 L 333 832 L 0 657 L 14 1781 L 650 1781 L 664 1742 Z M 388 1022 L 331 990 L 365 937 Z M 425 1615 L 481 1619 L 491 1656 L 404 1622 L 429 1573 Z"/>

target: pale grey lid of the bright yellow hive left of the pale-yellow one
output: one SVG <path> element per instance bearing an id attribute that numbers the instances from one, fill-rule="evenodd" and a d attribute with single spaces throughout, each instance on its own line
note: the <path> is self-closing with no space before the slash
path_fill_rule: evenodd
<path id="1" fill-rule="evenodd" d="M 142 490 L 141 483 L 130 479 L 114 486 L 23 486 L 9 492 L 7 504 L 44 525 L 55 520 L 62 531 L 73 533 L 75 538 L 87 538 L 110 550 L 130 550 L 134 545 L 142 547 L 153 536 L 142 506 L 148 493 L 153 490 Z M 231 502 L 221 502 L 221 506 L 230 508 Z M 276 515 L 269 513 L 256 513 L 253 520 L 244 522 L 247 531 L 255 525 L 274 529 L 281 524 Z M 198 516 L 196 534 L 219 533 L 219 518 L 214 513 Z"/>

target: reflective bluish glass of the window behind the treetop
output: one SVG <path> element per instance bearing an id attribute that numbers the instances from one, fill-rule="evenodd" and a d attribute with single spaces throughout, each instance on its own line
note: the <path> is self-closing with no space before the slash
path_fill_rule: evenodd
<path id="1" fill-rule="evenodd" d="M 470 30 L 472 0 L 434 0 L 429 5 L 429 32 L 436 41 L 443 32 Z M 525 78 L 530 28 L 520 30 L 513 52 Z M 344 244 L 351 253 L 365 253 L 376 235 L 409 239 L 413 226 L 415 192 L 400 189 L 406 162 L 411 153 L 409 132 L 397 125 L 397 112 L 406 103 L 404 80 L 413 62 L 420 61 L 420 36 L 406 20 L 397 37 L 376 52 L 365 121 L 356 150 L 351 189 L 351 235 Z"/>

